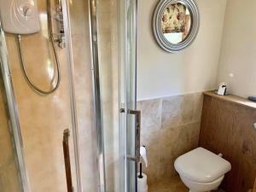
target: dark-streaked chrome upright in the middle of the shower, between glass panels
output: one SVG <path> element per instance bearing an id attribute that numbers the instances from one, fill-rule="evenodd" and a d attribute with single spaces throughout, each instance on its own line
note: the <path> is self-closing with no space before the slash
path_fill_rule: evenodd
<path id="1" fill-rule="evenodd" d="M 102 98 L 100 85 L 100 63 L 98 49 L 97 0 L 88 0 L 90 24 L 91 73 L 94 96 L 94 126 L 96 131 L 96 158 L 98 174 L 98 192 L 106 191 L 106 172 L 104 154 L 104 132 L 102 125 Z"/>

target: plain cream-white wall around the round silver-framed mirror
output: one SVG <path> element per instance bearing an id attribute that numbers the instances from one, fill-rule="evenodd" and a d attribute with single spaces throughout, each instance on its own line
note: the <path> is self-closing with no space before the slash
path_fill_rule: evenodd
<path id="1" fill-rule="evenodd" d="M 152 15 L 158 2 L 138 1 L 138 100 L 216 88 L 226 0 L 197 0 L 200 32 L 179 54 L 167 53 L 154 40 Z"/>

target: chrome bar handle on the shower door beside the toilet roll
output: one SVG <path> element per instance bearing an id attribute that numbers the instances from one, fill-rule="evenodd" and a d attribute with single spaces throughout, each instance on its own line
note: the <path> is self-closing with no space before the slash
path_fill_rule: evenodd
<path id="1" fill-rule="evenodd" d="M 135 145 L 136 145 L 136 149 L 135 149 L 135 156 L 133 155 L 128 155 L 127 159 L 128 160 L 133 160 L 136 162 L 140 161 L 140 143 L 141 143 L 141 111 L 139 110 L 128 110 L 129 114 L 135 114 L 136 115 L 136 127 L 135 127 Z"/>

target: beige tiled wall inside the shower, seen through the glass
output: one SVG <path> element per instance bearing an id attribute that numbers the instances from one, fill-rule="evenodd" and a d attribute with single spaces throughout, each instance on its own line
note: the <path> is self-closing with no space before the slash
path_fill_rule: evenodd
<path id="1" fill-rule="evenodd" d="M 73 43 L 74 83 L 79 127 L 79 148 L 82 185 L 86 192 L 97 191 L 96 130 L 93 124 L 93 94 L 90 61 L 90 27 L 87 1 L 69 1 Z M 99 49 L 102 83 L 102 108 L 106 150 L 107 190 L 119 191 L 118 184 L 118 51 L 117 4 L 98 4 Z M 38 1 L 42 32 L 23 37 L 26 67 L 30 77 L 40 87 L 49 88 L 49 71 L 54 67 L 47 40 L 45 2 Z M 106 22 L 105 18 L 111 18 Z M 17 42 L 7 35 L 9 61 L 14 79 L 25 159 L 32 192 L 66 190 L 62 154 L 62 132 L 71 129 L 68 96 L 66 49 L 58 49 L 61 60 L 61 85 L 49 96 L 39 96 L 26 83 L 20 68 Z M 48 67 L 48 68 L 47 68 Z M 72 137 L 71 137 L 72 143 Z M 71 154 L 73 148 L 71 146 Z M 73 157 L 72 157 L 73 160 Z M 73 161 L 72 161 L 73 163 Z M 44 166 L 44 169 L 42 169 Z M 74 167 L 74 163 L 73 163 Z M 73 174 L 74 175 L 74 174 Z M 43 179 L 44 178 L 44 179 Z M 75 177 L 73 180 L 75 183 Z"/>

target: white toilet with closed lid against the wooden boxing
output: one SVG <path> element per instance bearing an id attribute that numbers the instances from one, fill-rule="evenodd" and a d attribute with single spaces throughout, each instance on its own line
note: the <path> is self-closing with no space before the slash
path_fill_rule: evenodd
<path id="1" fill-rule="evenodd" d="M 175 169 L 189 192 L 218 189 L 224 174 L 230 172 L 230 162 L 205 148 L 195 148 L 175 160 Z"/>

